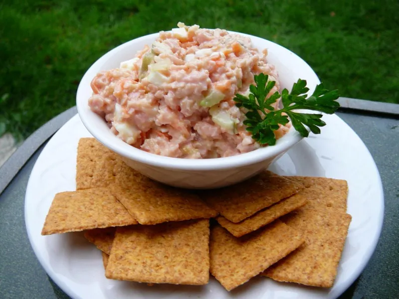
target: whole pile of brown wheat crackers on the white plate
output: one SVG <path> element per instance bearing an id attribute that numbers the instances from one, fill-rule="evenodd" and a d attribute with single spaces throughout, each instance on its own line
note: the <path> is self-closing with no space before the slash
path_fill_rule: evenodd
<path id="1" fill-rule="evenodd" d="M 230 291 L 257 275 L 329 288 L 351 216 L 345 180 L 269 171 L 206 191 L 173 188 L 79 141 L 76 191 L 55 195 L 42 235 L 84 231 L 105 276 Z M 213 218 L 210 219 L 210 218 Z"/>

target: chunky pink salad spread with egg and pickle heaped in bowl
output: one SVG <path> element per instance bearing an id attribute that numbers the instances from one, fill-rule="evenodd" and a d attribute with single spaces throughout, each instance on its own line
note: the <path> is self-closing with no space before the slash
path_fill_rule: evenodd
<path id="1" fill-rule="evenodd" d="M 124 142 L 155 154 L 216 158 L 258 149 L 243 125 L 245 108 L 233 98 L 248 95 L 259 73 L 276 81 L 269 95 L 279 89 L 267 50 L 226 30 L 178 26 L 119 68 L 97 74 L 91 110 Z M 288 129 L 281 126 L 276 138 Z"/>

